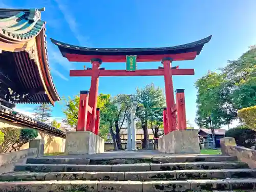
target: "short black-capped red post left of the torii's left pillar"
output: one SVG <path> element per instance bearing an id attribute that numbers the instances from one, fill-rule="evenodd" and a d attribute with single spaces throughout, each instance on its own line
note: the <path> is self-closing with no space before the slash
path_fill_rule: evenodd
<path id="1" fill-rule="evenodd" d="M 89 91 L 80 91 L 76 131 L 86 131 Z"/>

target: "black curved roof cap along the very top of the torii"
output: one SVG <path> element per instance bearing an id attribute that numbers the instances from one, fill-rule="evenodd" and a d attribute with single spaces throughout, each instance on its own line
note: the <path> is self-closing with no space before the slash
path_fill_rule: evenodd
<path id="1" fill-rule="evenodd" d="M 163 47 L 163 48 L 89 48 L 80 47 L 75 45 L 66 44 L 61 41 L 57 41 L 51 38 L 53 44 L 58 46 L 62 55 L 66 57 L 66 54 L 77 54 L 77 55 L 160 55 L 160 54 L 178 54 L 187 52 L 197 52 L 199 54 L 207 42 L 211 39 L 211 35 L 195 41 L 189 44 Z"/>

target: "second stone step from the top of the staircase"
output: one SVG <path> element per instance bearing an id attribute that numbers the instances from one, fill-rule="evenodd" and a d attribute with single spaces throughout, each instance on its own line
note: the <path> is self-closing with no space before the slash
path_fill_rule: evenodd
<path id="1" fill-rule="evenodd" d="M 138 163 L 115 165 L 87 164 L 22 164 L 16 165 L 15 171 L 22 172 L 146 172 L 184 169 L 231 169 L 248 168 L 241 162 L 189 162 L 189 163 Z"/>

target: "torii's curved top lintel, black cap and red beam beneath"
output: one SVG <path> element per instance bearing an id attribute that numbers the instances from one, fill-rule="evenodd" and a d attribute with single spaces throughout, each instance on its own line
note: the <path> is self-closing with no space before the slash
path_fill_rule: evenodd
<path id="1" fill-rule="evenodd" d="M 125 62 L 126 55 L 136 55 L 137 62 L 161 61 L 164 57 L 173 60 L 193 60 L 200 54 L 204 44 L 209 42 L 211 36 L 204 39 L 174 47 L 164 48 L 88 48 L 79 47 L 51 38 L 53 44 L 58 46 L 63 57 L 69 61 L 90 62 L 98 58 L 102 62 Z"/>

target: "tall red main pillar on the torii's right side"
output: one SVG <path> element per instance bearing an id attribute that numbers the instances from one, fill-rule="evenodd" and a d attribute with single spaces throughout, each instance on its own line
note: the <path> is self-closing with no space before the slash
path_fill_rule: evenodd
<path id="1" fill-rule="evenodd" d="M 176 130 L 176 116 L 172 114 L 172 108 L 175 106 L 172 69 L 170 69 L 172 67 L 172 61 L 173 59 L 169 57 L 163 58 L 161 61 L 164 68 L 168 133 Z"/>

